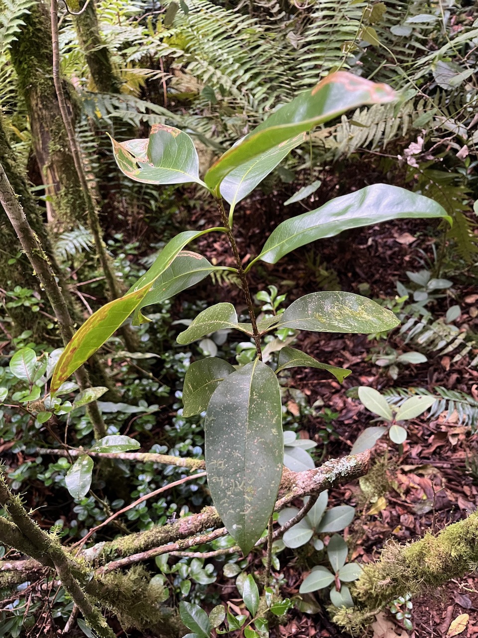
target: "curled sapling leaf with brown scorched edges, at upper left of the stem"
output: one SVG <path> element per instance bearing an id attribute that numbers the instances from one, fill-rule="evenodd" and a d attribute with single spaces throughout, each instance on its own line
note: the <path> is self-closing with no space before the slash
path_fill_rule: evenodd
<path id="1" fill-rule="evenodd" d="M 117 165 L 136 182 L 205 186 L 191 138 L 174 126 L 153 124 L 148 139 L 112 143 Z"/>

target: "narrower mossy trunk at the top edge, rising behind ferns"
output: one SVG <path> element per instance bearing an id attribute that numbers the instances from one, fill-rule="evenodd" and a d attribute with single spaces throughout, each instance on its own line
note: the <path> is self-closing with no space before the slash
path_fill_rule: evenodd
<path id="1" fill-rule="evenodd" d="M 119 93 L 121 82 L 113 71 L 110 51 L 99 33 L 96 3 L 94 0 L 89 0 L 85 8 L 85 3 L 80 0 L 75 11 L 80 12 L 73 19 L 76 34 L 78 34 L 96 91 Z"/>

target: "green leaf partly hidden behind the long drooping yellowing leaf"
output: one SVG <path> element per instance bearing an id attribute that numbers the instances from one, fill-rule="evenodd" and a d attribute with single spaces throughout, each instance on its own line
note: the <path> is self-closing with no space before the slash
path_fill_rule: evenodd
<path id="1" fill-rule="evenodd" d="M 152 304 L 159 304 L 165 299 L 171 299 L 178 293 L 191 288 L 205 279 L 211 272 L 217 271 L 208 260 L 189 250 L 178 253 L 173 263 L 152 283 L 151 290 L 146 293 L 133 315 L 133 325 L 140 325 L 148 321 L 141 315 L 141 308 Z"/>

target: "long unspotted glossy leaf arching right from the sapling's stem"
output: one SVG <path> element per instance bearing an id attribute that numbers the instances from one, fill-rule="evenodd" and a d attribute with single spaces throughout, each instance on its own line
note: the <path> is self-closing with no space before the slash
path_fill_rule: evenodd
<path id="1" fill-rule="evenodd" d="M 276 263 L 287 253 L 343 230 L 402 218 L 451 218 L 428 197 L 389 184 L 373 184 L 327 202 L 315 211 L 286 219 L 264 244 L 257 259 Z"/>

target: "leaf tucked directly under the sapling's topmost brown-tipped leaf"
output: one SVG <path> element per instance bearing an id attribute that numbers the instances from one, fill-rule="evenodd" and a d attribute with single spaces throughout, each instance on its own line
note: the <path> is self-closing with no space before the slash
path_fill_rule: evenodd
<path id="1" fill-rule="evenodd" d="M 260 184 L 264 177 L 266 177 L 292 149 L 301 144 L 303 140 L 304 134 L 301 133 L 290 140 L 281 142 L 272 149 L 264 151 L 260 155 L 250 159 L 250 161 L 240 163 L 240 165 L 233 168 L 222 180 L 220 186 L 222 197 L 224 197 L 231 207 L 235 207 L 240 200 L 249 195 L 249 193 L 256 188 L 257 184 Z M 236 142 L 231 150 L 242 144 L 242 142 L 243 140 Z"/>

